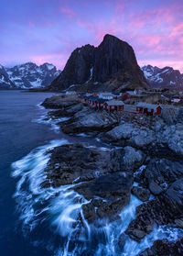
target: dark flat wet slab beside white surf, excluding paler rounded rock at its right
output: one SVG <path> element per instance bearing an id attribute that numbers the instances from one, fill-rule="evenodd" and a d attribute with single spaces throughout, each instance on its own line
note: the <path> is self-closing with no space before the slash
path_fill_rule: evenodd
<path id="1" fill-rule="evenodd" d="M 57 147 L 50 153 L 45 173 L 47 183 L 52 186 L 72 184 L 75 180 L 90 181 L 99 174 L 109 172 L 110 151 L 69 144 Z"/>

